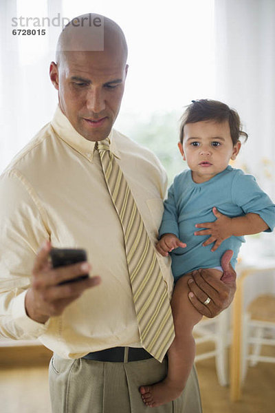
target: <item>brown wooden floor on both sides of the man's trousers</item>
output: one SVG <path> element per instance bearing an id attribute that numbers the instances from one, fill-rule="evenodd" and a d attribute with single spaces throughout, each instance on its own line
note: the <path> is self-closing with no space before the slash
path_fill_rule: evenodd
<path id="1" fill-rule="evenodd" d="M 265 351 L 275 355 L 274 348 Z M 47 382 L 50 357 L 50 351 L 42 347 L 0 348 L 1 413 L 51 412 Z M 230 403 L 229 388 L 219 385 L 214 359 L 199 361 L 197 372 L 203 413 L 274 413 L 275 364 L 249 368 L 242 399 L 237 403 Z"/>

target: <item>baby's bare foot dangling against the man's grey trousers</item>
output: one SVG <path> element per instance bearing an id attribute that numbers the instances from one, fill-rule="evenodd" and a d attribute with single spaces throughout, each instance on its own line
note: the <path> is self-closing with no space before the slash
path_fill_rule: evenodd
<path id="1" fill-rule="evenodd" d="M 157 407 L 177 399 L 181 395 L 183 388 L 179 388 L 175 383 L 161 381 L 153 385 L 142 385 L 140 393 L 143 402 L 149 407 Z"/>

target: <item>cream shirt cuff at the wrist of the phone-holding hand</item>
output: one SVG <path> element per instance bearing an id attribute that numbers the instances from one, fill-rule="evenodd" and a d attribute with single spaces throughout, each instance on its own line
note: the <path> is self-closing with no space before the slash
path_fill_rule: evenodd
<path id="1" fill-rule="evenodd" d="M 18 339 L 37 339 L 46 330 L 50 319 L 41 324 L 28 317 L 25 311 L 25 295 L 27 291 L 14 297 L 12 302 L 12 319 L 17 331 L 19 331 Z"/>

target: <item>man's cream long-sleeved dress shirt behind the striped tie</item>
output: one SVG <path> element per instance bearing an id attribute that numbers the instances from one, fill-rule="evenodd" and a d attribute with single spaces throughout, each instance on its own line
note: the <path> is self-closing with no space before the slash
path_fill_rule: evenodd
<path id="1" fill-rule="evenodd" d="M 111 151 L 124 172 L 153 244 L 162 220 L 166 174 L 157 158 L 112 129 Z M 115 346 L 140 347 L 122 226 L 95 142 L 83 138 L 58 107 L 0 177 L 0 335 L 34 339 L 64 358 Z M 25 313 L 36 252 L 85 248 L 102 283 L 46 324 Z M 157 253 L 171 295 L 170 258 Z"/>

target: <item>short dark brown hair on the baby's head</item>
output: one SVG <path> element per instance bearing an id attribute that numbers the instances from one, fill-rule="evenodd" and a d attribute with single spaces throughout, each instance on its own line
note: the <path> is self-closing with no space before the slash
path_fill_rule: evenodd
<path id="1" fill-rule="evenodd" d="M 228 105 L 219 102 L 219 100 L 199 99 L 192 100 L 192 103 L 187 106 L 186 111 L 181 116 L 179 132 L 181 144 L 184 141 L 184 126 L 187 123 L 196 123 L 202 120 L 214 120 L 217 123 L 228 120 L 233 145 L 236 145 L 240 136 L 244 136 L 244 141 L 248 139 L 248 134 L 241 130 L 241 120 L 234 109 L 230 109 Z"/>

